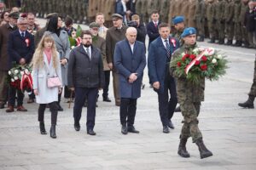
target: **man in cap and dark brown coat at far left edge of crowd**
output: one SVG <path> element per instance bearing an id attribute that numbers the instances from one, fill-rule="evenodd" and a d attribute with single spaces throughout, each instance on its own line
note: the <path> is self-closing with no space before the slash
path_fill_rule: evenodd
<path id="1" fill-rule="evenodd" d="M 9 56 L 7 53 L 7 44 L 11 31 L 17 29 L 17 20 L 19 13 L 9 14 L 9 23 L 0 26 L 0 109 L 4 108 L 7 102 L 8 82 L 6 82 L 9 71 Z"/>

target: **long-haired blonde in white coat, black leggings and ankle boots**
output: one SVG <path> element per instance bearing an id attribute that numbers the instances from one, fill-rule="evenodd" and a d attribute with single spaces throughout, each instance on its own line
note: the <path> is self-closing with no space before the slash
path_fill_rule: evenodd
<path id="1" fill-rule="evenodd" d="M 33 89 L 36 101 L 39 104 L 38 122 L 41 134 L 47 134 L 44 127 L 44 111 L 49 104 L 51 112 L 50 137 L 56 138 L 55 125 L 58 115 L 58 94 L 61 94 L 62 86 L 48 87 L 49 77 L 59 77 L 61 82 L 61 62 L 59 54 L 55 48 L 55 41 L 49 35 L 44 35 L 38 44 L 33 59 Z"/>

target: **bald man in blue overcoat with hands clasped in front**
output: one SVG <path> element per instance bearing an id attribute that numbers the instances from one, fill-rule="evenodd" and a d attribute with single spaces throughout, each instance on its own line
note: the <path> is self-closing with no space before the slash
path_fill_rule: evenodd
<path id="1" fill-rule="evenodd" d="M 144 44 L 136 41 L 136 28 L 129 27 L 125 35 L 125 40 L 117 42 L 113 55 L 114 65 L 119 72 L 120 122 L 123 134 L 139 133 L 133 124 L 146 66 Z"/>

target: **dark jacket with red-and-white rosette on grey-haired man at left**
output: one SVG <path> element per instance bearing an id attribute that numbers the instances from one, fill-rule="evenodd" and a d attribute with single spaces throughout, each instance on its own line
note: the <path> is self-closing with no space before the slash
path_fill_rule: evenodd
<path id="1" fill-rule="evenodd" d="M 8 54 L 10 62 L 20 63 L 20 59 L 26 59 L 26 64 L 29 64 L 34 54 L 35 44 L 34 37 L 26 31 L 25 37 L 20 36 L 19 29 L 12 31 L 9 34 Z"/>

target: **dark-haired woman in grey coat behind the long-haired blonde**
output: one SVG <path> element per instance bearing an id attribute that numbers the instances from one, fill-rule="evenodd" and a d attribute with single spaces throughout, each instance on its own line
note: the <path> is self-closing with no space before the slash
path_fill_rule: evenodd
<path id="1" fill-rule="evenodd" d="M 61 30 L 62 20 L 61 17 L 55 15 L 49 19 L 49 23 L 45 33 L 49 34 L 55 40 L 55 46 L 60 54 L 61 61 L 61 80 L 63 86 L 67 86 L 67 61 L 70 53 L 70 43 L 68 40 L 67 31 Z M 45 34 L 44 33 L 44 34 Z M 61 94 L 58 99 L 58 111 L 63 111 L 61 107 Z"/>

